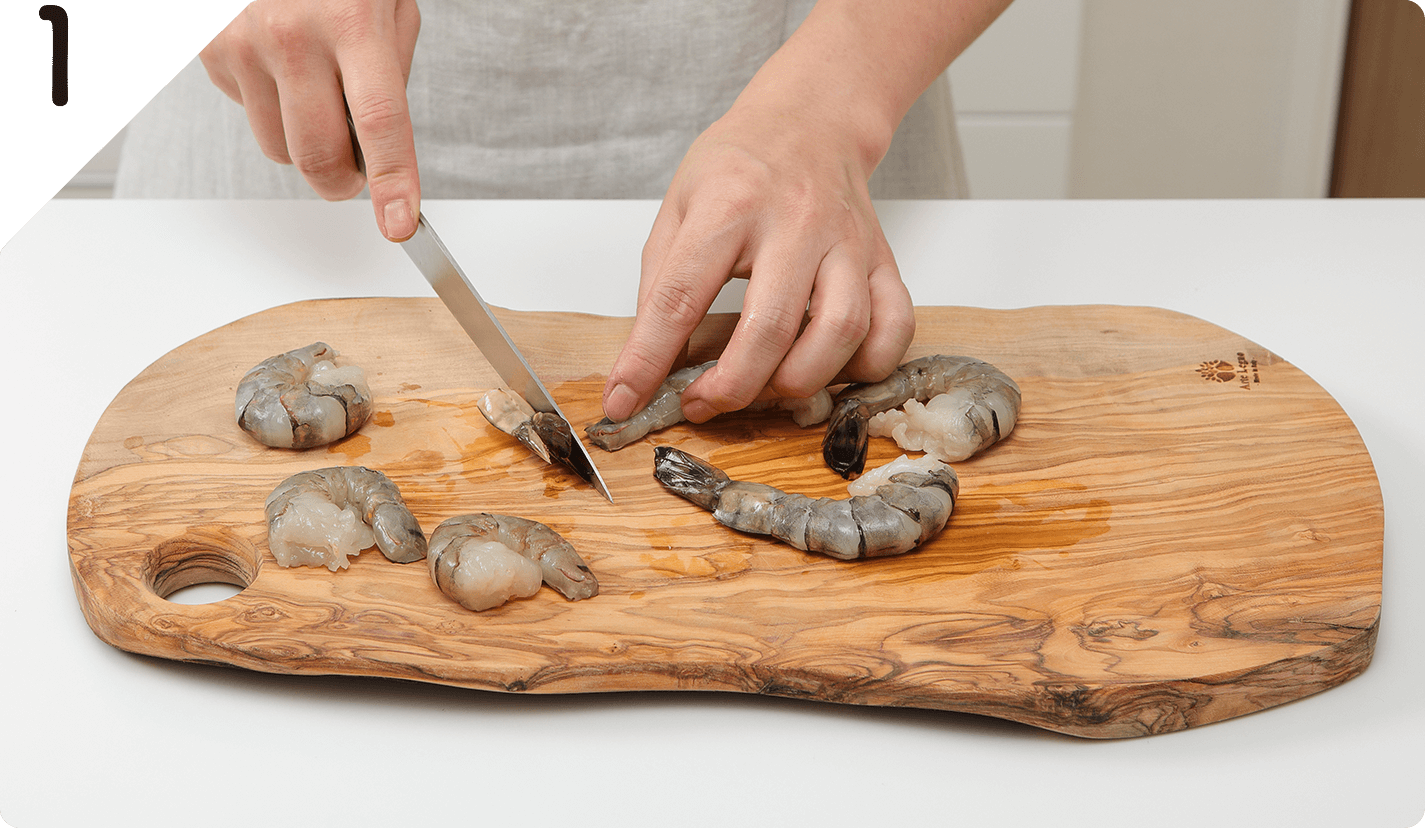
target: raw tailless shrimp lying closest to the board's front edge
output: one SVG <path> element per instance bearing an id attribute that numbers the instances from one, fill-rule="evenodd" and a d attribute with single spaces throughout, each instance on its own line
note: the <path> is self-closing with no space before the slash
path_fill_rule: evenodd
<path id="1" fill-rule="evenodd" d="M 467 610 L 527 599 L 547 583 L 577 601 L 598 594 L 598 580 L 557 532 L 509 514 L 462 514 L 430 533 L 426 553 L 440 591 Z"/>

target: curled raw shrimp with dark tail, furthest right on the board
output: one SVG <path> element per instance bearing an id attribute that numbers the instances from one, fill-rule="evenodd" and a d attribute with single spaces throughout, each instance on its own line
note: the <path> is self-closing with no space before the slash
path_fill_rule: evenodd
<path id="1" fill-rule="evenodd" d="M 926 450 L 945 462 L 963 460 L 1003 439 L 1019 419 L 1019 385 L 993 365 L 969 356 L 922 356 L 881 382 L 852 385 L 841 393 L 826 425 L 822 457 L 842 477 L 859 475 L 866 465 L 871 433 L 891 433 L 896 425 L 905 425 L 905 438 L 926 428 L 926 420 L 916 418 L 888 425 L 882 420 L 878 429 L 884 430 L 874 432 L 875 415 L 901 405 L 911 408 L 909 400 L 923 403 L 939 396 L 946 399 L 932 403 L 938 416 L 929 419 L 929 429 L 935 433 L 921 435 L 913 450 L 931 446 Z M 901 447 L 912 447 L 902 438 L 896 438 Z"/>

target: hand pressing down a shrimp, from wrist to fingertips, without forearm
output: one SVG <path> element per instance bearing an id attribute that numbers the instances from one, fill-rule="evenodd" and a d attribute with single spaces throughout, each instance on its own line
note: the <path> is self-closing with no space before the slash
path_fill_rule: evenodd
<path id="1" fill-rule="evenodd" d="M 647 403 L 734 276 L 750 279 L 742 314 L 683 393 L 690 420 L 899 365 L 915 309 L 866 190 L 879 154 L 854 135 L 817 111 L 750 100 L 694 141 L 644 245 L 637 316 L 604 392 L 610 419 Z"/>

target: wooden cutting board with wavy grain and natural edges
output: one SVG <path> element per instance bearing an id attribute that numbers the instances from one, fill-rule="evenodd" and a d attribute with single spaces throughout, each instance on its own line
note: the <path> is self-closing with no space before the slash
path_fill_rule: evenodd
<path id="1" fill-rule="evenodd" d="M 499 312 L 577 429 L 600 416 L 624 318 Z M 921 308 L 909 356 L 963 353 L 1023 388 L 1013 435 L 963 463 L 945 532 L 836 562 L 712 522 L 651 476 L 675 445 L 811 496 L 845 497 L 822 428 L 785 413 L 591 449 L 607 503 L 490 428 L 494 372 L 435 299 L 299 302 L 232 322 L 138 375 L 100 419 L 70 497 L 80 606 L 110 644 L 291 674 L 494 691 L 724 690 L 969 711 L 1084 737 L 1201 725 L 1334 687 L 1371 660 L 1379 485 L 1355 428 L 1301 371 L 1153 308 Z M 714 358 L 712 316 L 690 359 Z M 362 365 L 376 413 L 319 449 L 234 422 L 242 373 L 323 341 Z M 874 439 L 868 467 L 898 456 Z M 423 563 L 276 564 L 264 497 L 332 465 L 380 469 L 429 533 L 455 514 L 540 520 L 601 593 L 472 613 Z M 232 583 L 211 604 L 164 596 Z"/>

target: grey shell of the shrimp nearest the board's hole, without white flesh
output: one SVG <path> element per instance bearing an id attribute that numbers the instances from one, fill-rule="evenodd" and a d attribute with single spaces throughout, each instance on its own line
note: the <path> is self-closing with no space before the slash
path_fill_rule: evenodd
<path id="1" fill-rule="evenodd" d="M 406 507 L 400 490 L 383 473 L 365 466 L 331 466 L 298 472 L 282 480 L 264 503 L 269 544 L 289 509 L 304 495 L 315 495 L 338 509 L 353 509 L 376 536 L 376 549 L 396 563 L 412 563 L 426 556 L 426 536 L 416 516 Z M 361 552 L 361 550 L 356 550 Z"/>

